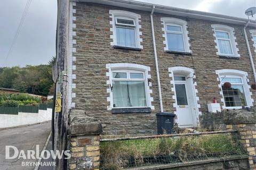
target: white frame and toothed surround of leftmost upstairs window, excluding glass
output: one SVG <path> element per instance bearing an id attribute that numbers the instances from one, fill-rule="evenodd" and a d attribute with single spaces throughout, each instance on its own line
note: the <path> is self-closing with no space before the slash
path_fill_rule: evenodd
<path id="1" fill-rule="evenodd" d="M 109 17 L 112 18 L 112 20 L 110 21 L 110 25 L 111 25 L 110 31 L 112 32 L 112 35 L 110 35 L 110 38 L 113 39 L 113 41 L 110 42 L 110 45 L 117 46 L 116 27 L 123 27 L 123 28 L 130 27 L 135 29 L 135 47 L 131 47 L 131 48 L 143 49 L 143 46 L 141 45 L 142 38 L 140 38 L 140 36 L 142 35 L 142 32 L 140 31 L 141 25 L 139 24 L 141 16 L 133 12 L 122 11 L 122 10 L 109 10 L 109 14 L 110 14 Z M 117 23 L 118 18 L 133 20 L 134 25 Z M 123 46 L 123 47 L 129 47 L 129 46 Z"/>

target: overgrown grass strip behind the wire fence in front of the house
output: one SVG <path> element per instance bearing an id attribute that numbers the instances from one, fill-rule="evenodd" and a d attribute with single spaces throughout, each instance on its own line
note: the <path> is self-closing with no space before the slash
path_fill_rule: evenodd
<path id="1" fill-rule="evenodd" d="M 230 134 L 101 142 L 101 170 L 242 155 Z"/>

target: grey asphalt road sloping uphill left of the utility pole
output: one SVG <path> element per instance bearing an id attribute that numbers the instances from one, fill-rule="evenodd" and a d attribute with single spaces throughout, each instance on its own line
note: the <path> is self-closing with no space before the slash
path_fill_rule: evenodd
<path id="1" fill-rule="evenodd" d="M 29 125 L 20 128 L 0 130 L 0 169 L 1 170 L 34 170 L 34 165 L 22 166 L 24 162 L 37 162 L 37 159 L 5 159 L 5 146 L 15 146 L 25 151 L 27 157 L 27 150 L 36 151 L 36 145 L 39 145 L 41 151 L 45 142 L 51 132 L 51 122 Z M 14 155 L 14 150 L 10 149 L 10 156 Z"/>

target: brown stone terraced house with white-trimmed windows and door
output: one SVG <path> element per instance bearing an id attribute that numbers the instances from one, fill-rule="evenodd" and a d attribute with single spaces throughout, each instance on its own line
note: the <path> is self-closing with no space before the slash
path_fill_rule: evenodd
<path id="1" fill-rule="evenodd" d="M 102 134 L 155 134 L 159 112 L 180 128 L 225 128 L 216 110 L 255 108 L 254 21 L 130 0 L 69 11 L 68 106 Z"/>

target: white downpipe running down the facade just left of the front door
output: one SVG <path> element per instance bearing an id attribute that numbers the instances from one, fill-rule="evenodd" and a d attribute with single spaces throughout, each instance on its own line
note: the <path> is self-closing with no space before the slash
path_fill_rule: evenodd
<path id="1" fill-rule="evenodd" d="M 157 53 L 156 53 L 156 40 L 155 40 L 155 31 L 154 31 L 154 23 L 153 23 L 153 13 L 155 11 L 155 5 L 152 8 L 151 14 L 150 14 L 150 20 L 151 20 L 151 30 L 152 30 L 152 38 L 153 38 L 153 46 L 154 46 L 154 55 L 155 55 L 155 63 L 156 63 L 156 77 L 157 77 L 157 85 L 158 85 L 158 93 L 159 93 L 159 101 L 160 101 L 160 109 L 161 112 L 164 112 L 163 109 L 163 101 L 162 101 L 162 92 L 161 92 L 161 84 L 160 84 L 160 76 L 159 76 L 159 70 L 158 70 L 158 61 L 157 61 Z"/>

